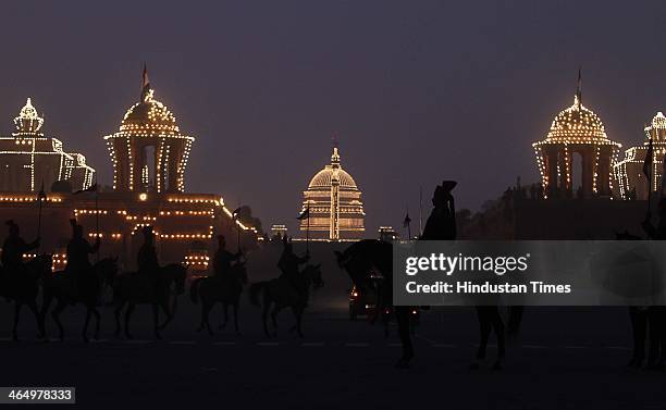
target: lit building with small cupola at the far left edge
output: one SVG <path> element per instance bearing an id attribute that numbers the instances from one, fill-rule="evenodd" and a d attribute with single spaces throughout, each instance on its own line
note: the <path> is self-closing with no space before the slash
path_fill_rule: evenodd
<path id="1" fill-rule="evenodd" d="M 35 192 L 42 184 L 49 191 L 57 181 L 81 190 L 94 183 L 95 170 L 86 157 L 66 152 L 60 139 L 41 133 L 42 125 L 44 117 L 28 98 L 14 119 L 15 132 L 0 137 L 0 191 Z"/>

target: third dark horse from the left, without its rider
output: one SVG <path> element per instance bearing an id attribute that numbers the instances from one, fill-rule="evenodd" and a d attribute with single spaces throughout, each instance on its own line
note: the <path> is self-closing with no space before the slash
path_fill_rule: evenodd
<path id="1" fill-rule="evenodd" d="M 155 337 L 162 338 L 159 331 L 164 328 L 172 320 L 175 312 L 177 296 L 185 291 L 185 276 L 187 268 L 172 263 L 160 268 L 158 271 L 155 286 L 147 285 L 147 278 L 135 272 L 126 272 L 116 277 L 113 285 L 113 302 L 115 305 L 115 336 L 121 333 L 120 314 L 125 305 L 125 336 L 131 339 L 130 318 L 137 305 L 151 305 L 152 318 L 155 321 Z M 173 303 L 169 306 L 169 299 L 172 294 L 172 287 L 175 291 Z M 158 323 L 158 309 L 162 308 L 166 314 L 166 321 L 161 325 Z"/>

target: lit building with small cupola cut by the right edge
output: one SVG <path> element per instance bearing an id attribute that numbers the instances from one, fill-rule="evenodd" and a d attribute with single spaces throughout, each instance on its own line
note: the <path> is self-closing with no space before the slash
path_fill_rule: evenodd
<path id="1" fill-rule="evenodd" d="M 643 174 L 643 164 L 650 139 L 652 139 L 653 145 L 650 186 L 653 191 L 661 191 L 664 184 L 662 173 L 664 154 L 666 153 L 666 116 L 661 111 L 657 112 L 650 124 L 645 125 L 644 132 L 643 144 L 626 150 L 622 161 L 615 164 L 619 195 L 625 199 L 648 199 L 648 179 Z"/>

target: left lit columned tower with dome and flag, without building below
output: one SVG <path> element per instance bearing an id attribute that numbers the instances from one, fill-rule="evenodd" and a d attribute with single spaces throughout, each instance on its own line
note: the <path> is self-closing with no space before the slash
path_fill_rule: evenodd
<path id="1" fill-rule="evenodd" d="M 104 137 L 113 162 L 113 189 L 182 192 L 194 137 L 181 134 L 175 116 L 156 100 L 144 67 L 140 99 L 120 129 Z"/>

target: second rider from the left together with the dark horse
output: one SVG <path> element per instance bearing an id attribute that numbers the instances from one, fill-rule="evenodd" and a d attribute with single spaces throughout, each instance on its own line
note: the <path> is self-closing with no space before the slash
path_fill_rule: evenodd
<path id="1" fill-rule="evenodd" d="M 90 245 L 84 237 L 83 226 L 76 220 L 70 220 L 72 225 L 72 238 L 67 244 L 67 264 L 62 272 L 45 278 L 44 303 L 41 306 L 41 318 L 46 321 L 46 313 L 51 302 L 55 299 L 57 305 L 51 316 L 58 325 L 60 339 L 64 339 L 64 328 L 60 321 L 60 313 L 70 305 L 82 303 L 86 307 L 86 320 L 84 322 L 82 336 L 88 341 L 87 331 L 90 315 L 95 316 L 95 338 L 99 338 L 100 314 L 97 310 L 100 305 L 103 287 L 111 286 L 118 272 L 118 260 L 106 258 L 95 265 L 90 264 L 89 256 L 99 252 L 101 245 L 97 237 Z"/>

